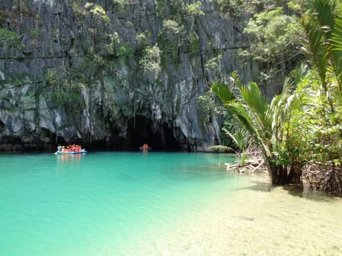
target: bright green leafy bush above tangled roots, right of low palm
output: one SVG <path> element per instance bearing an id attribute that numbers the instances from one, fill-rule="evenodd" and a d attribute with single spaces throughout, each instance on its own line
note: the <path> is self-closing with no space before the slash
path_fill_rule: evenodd
<path id="1" fill-rule="evenodd" d="M 299 82 L 296 93 L 306 105 L 293 113 L 293 120 L 289 125 L 289 134 L 293 138 L 290 149 L 297 161 L 304 163 L 306 168 L 316 166 L 315 176 L 319 178 L 315 180 L 318 181 L 318 188 L 341 196 L 342 95 L 336 87 L 336 79 L 330 78 L 330 81 L 329 91 L 335 92 L 331 99 L 335 106 L 334 113 L 328 107 L 326 93 L 315 70 L 310 70 Z M 336 174 L 337 177 L 333 177 Z M 322 183 L 324 186 L 319 187 Z M 328 183 L 333 186 L 327 186 Z"/>

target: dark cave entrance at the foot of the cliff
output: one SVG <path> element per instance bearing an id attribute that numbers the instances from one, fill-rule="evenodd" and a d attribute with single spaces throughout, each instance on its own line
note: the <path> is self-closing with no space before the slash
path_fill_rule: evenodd
<path id="1" fill-rule="evenodd" d="M 167 124 L 161 124 L 157 131 L 152 131 L 152 121 L 136 116 L 128 121 L 128 133 L 123 143 L 124 150 L 137 150 L 147 143 L 153 151 L 180 151 L 180 143 L 175 139 L 173 130 Z"/>

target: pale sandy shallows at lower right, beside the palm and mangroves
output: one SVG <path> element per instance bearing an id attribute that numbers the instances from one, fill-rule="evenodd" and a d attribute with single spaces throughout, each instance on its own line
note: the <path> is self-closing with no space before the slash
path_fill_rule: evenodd
<path id="1" fill-rule="evenodd" d="M 154 230 L 130 255 L 342 255 L 341 198 L 252 178 L 234 198 Z M 185 221 L 186 220 L 186 221 Z M 126 254 L 126 253 L 124 253 Z"/>

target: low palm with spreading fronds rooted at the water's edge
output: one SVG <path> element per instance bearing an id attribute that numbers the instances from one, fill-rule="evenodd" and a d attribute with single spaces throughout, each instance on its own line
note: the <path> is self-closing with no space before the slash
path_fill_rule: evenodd
<path id="1" fill-rule="evenodd" d="M 284 83 L 284 92 L 270 102 L 261 95 L 258 85 L 249 82 L 242 85 L 233 73 L 229 85 L 223 82 L 212 82 L 212 90 L 223 102 L 239 125 L 246 131 L 250 140 L 261 150 L 267 164 L 273 184 L 296 183 L 302 186 L 301 171 L 294 159 L 285 154 L 286 132 L 285 121 L 291 118 L 291 109 L 295 106 L 296 97 L 289 97 L 290 80 Z"/>

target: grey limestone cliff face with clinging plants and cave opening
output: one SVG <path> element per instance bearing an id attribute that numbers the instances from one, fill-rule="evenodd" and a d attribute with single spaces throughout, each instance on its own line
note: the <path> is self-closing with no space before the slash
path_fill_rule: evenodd
<path id="1" fill-rule="evenodd" d="M 257 73 L 241 24 L 216 1 L 1 1 L 0 149 L 217 144 L 210 81 Z"/>

